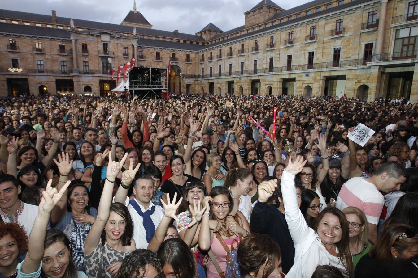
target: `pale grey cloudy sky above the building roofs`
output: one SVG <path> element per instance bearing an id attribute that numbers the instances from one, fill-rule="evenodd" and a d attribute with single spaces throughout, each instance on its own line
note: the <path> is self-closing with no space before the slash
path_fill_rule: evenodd
<path id="1" fill-rule="evenodd" d="M 260 0 L 136 0 L 153 29 L 194 34 L 209 22 L 223 31 L 244 25 L 244 12 Z M 274 1 L 289 9 L 309 0 Z M 281 3 L 283 2 L 283 3 Z M 0 9 L 120 24 L 133 0 L 0 0 Z"/>

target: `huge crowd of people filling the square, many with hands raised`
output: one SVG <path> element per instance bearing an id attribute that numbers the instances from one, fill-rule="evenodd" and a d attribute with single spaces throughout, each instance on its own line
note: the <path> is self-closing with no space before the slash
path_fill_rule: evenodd
<path id="1" fill-rule="evenodd" d="M 0 112 L 0 278 L 418 277 L 416 104 L 51 95 Z"/>

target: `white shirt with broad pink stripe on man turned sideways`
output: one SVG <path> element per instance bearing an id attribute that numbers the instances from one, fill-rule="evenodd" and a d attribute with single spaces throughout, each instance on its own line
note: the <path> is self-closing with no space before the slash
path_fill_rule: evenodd
<path id="1" fill-rule="evenodd" d="M 366 215 L 367 222 L 378 224 L 385 198 L 373 183 L 364 178 L 351 178 L 342 185 L 338 194 L 336 207 L 343 210 L 356 207 Z"/>

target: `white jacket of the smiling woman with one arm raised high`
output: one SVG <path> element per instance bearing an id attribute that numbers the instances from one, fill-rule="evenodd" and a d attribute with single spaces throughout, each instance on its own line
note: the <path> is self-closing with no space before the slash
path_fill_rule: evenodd
<path id="1" fill-rule="evenodd" d="M 283 171 L 280 183 L 285 218 L 296 250 L 295 263 L 287 273 L 286 278 L 310 278 L 318 265 L 333 265 L 347 276 L 347 270 L 342 262 L 325 249 L 319 235 L 308 227 L 303 218 L 296 198 L 294 179 L 294 175 Z"/>

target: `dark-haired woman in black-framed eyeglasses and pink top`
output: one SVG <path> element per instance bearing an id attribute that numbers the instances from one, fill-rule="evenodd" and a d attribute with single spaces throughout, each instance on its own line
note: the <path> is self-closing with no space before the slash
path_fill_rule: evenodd
<path id="1" fill-rule="evenodd" d="M 205 202 L 206 211 L 203 213 L 199 230 L 199 248 L 209 250 L 214 260 L 209 260 L 207 277 L 219 278 L 219 268 L 225 273 L 227 250 L 237 247 L 243 237 L 250 234 L 250 225 L 239 211 L 235 216 L 230 215 L 233 208 L 232 196 L 227 188 L 216 186 Z M 209 220 L 217 220 L 222 224 L 219 231 L 210 229 Z M 222 241 L 222 242 L 221 242 Z"/>

